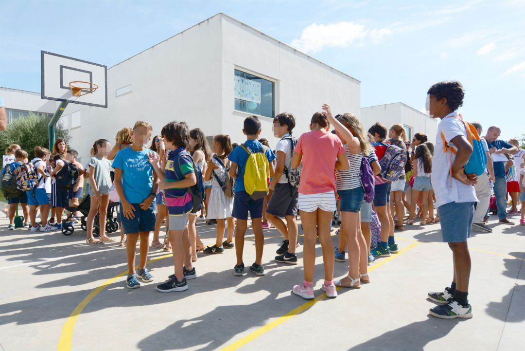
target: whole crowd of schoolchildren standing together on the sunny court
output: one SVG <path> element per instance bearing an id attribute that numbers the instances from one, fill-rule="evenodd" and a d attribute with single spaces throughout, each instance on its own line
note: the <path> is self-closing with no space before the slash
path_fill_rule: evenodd
<path id="1" fill-rule="evenodd" d="M 477 199 L 472 186 L 476 177 L 464 171 L 472 148 L 456 112 L 463 103 L 463 94 L 463 88 L 456 81 L 440 82 L 428 90 L 430 115 L 442 119 L 435 151 L 421 133 L 409 142 L 399 124 L 387 130 L 381 123 L 375 123 L 366 131 L 352 113 L 333 116 L 329 105 L 323 105 L 322 112 L 313 114 L 310 131 L 298 139 L 292 136 L 295 117 L 287 112 L 277 115 L 273 121 L 274 136 L 279 139 L 275 150 L 267 146 L 267 141 L 261 142 L 261 123 L 256 116 L 244 120 L 244 143 L 235 146 L 228 135 L 216 135 L 213 152 L 202 130 L 190 130 L 186 122 L 167 123 L 152 140 L 151 125 L 138 121 L 133 128 L 119 131 L 113 147 L 108 140 L 97 140 L 86 167 L 76 162 L 76 152 L 68 150 L 59 139 L 53 152 L 35 148 L 35 159 L 31 162 L 40 181 L 35 191 L 27 192 L 30 228 L 31 231 L 59 228 L 68 199 L 78 203 L 83 180 L 79 179 L 69 193 L 50 181 L 66 162 L 76 162 L 86 177 L 86 193 L 91 198 L 86 242 L 100 245 L 114 241 L 104 229 L 108 203 L 117 198 L 120 245 L 127 247 L 126 286 L 138 288 L 139 280 L 154 280 L 146 268 L 149 234 L 154 232 L 152 247 L 171 250 L 174 264 L 174 274 L 156 289 L 174 292 L 187 290 L 187 280 L 197 277 L 194 262 L 199 251 L 221 254 L 225 249 L 235 248 L 233 273 L 242 276 L 248 218 L 255 236 L 255 261 L 249 266 L 250 272 L 257 276 L 265 274 L 262 252 L 263 222 L 266 221 L 266 226 L 274 226 L 284 238 L 275 261 L 297 264 L 300 215 L 304 232 L 304 277 L 293 286 L 292 293 L 311 299 L 314 298 L 317 240 L 322 247 L 324 264 L 321 290 L 333 298 L 337 296 L 337 286 L 360 288 L 370 283 L 367 265 L 375 257 L 397 253 L 394 230 L 404 230 L 404 224 L 414 224 L 418 215 L 422 225 L 441 223 L 443 240 L 454 253 L 453 283 L 443 292 L 428 294 L 430 300 L 439 303 L 430 309 L 430 314 L 440 318 L 469 318 L 470 257 L 466 240 Z M 334 132 L 330 132 L 330 126 Z M 152 143 L 148 146 L 150 140 Z M 455 147 L 453 154 L 445 151 L 450 146 Z M 17 163 L 27 162 L 27 153 L 23 150 L 15 148 L 9 152 L 14 152 Z M 401 160 L 401 166 L 386 162 L 394 159 Z M 205 193 L 202 206 L 196 189 Z M 25 201 L 10 199 L 9 203 L 15 200 Z M 434 205 L 437 216 L 434 216 Z M 36 223 L 38 206 L 41 224 Z M 202 207 L 206 209 L 206 219 L 217 224 L 215 243 L 207 247 L 199 239 L 195 225 L 197 216 L 203 217 Z M 57 224 L 47 221 L 49 208 Z M 405 208 L 409 213 L 406 221 Z M 331 239 L 334 213 L 339 213 L 341 223 L 339 247 L 335 248 Z M 375 213 L 381 223 L 381 239 L 371 247 L 371 222 Z M 97 214 L 99 239 L 93 237 Z M 163 222 L 167 235 L 161 243 Z M 139 239 L 139 269 L 135 270 Z M 334 260 L 344 262 L 347 250 L 348 275 L 334 281 Z"/>

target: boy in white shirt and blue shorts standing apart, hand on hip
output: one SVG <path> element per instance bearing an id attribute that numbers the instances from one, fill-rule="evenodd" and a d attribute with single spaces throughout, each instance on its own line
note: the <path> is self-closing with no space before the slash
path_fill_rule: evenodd
<path id="1" fill-rule="evenodd" d="M 472 154 L 467 132 L 457 109 L 463 105 L 465 92 L 458 81 L 443 81 L 428 89 L 430 117 L 439 118 L 436 147 L 432 160 L 432 187 L 439 210 L 441 234 L 453 252 L 454 275 L 450 287 L 443 292 L 428 293 L 428 298 L 442 304 L 430 309 L 430 315 L 438 318 L 471 318 L 472 307 L 468 304 L 470 278 L 470 253 L 467 238 L 470 236 L 474 203 L 477 202 L 476 176 L 465 174 Z M 443 136 L 443 137 L 442 137 Z M 444 140 L 447 152 L 444 150 Z M 451 148 L 456 150 L 453 153 Z"/>

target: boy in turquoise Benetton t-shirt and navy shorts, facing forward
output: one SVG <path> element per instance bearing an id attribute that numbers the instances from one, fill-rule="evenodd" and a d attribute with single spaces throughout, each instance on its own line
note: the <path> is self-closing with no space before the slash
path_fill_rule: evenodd
<path id="1" fill-rule="evenodd" d="M 113 160 L 115 169 L 115 188 L 120 197 L 122 226 L 128 234 L 128 278 L 126 286 L 130 289 L 140 287 L 138 277 L 143 282 L 153 281 L 146 269 L 148 261 L 149 235 L 155 230 L 155 208 L 153 200 L 157 192 L 157 176 L 148 161 L 150 149 L 145 147 L 151 139 L 150 123 L 138 121 L 133 127 L 133 143 L 120 150 Z M 140 235 L 140 264 L 135 272 L 135 247 Z M 138 274 L 138 275 L 137 275 Z"/>

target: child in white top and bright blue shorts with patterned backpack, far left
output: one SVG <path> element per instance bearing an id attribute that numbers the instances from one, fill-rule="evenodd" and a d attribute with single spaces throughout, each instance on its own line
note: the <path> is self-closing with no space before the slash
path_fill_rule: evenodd
<path id="1" fill-rule="evenodd" d="M 49 174 L 46 169 L 51 152 L 44 147 L 37 146 L 34 153 L 35 158 L 19 168 L 17 182 L 25 187 L 27 194 L 31 233 L 49 232 L 56 230 L 53 225 L 47 222 L 50 208 L 47 194 L 51 192 L 51 183 L 47 181 Z M 39 206 L 41 226 L 36 222 L 36 212 Z"/>

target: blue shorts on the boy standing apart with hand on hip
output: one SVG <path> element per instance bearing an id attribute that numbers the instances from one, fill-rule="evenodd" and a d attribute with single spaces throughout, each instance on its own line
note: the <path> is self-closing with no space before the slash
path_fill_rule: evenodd
<path id="1" fill-rule="evenodd" d="M 470 238 L 474 202 L 449 202 L 438 207 L 444 243 L 461 243 Z"/>

